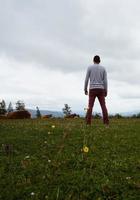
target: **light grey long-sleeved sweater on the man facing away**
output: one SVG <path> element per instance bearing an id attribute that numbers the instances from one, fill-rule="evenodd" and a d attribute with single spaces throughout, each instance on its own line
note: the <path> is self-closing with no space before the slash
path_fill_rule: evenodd
<path id="1" fill-rule="evenodd" d="M 93 64 L 88 67 L 84 85 L 85 91 L 87 91 L 89 80 L 89 89 L 101 88 L 105 89 L 107 92 L 107 73 L 103 66 L 99 64 Z"/>

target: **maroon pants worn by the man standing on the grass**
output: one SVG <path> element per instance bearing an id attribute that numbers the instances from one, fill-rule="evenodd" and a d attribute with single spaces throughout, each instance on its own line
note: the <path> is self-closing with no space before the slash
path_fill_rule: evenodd
<path id="1" fill-rule="evenodd" d="M 88 111 L 87 111 L 87 115 L 86 115 L 86 123 L 91 124 L 92 109 L 93 109 L 93 105 L 94 105 L 96 97 L 98 98 L 99 103 L 102 108 L 103 122 L 104 122 L 104 124 L 109 124 L 108 112 L 107 112 L 107 108 L 106 108 L 106 104 L 105 104 L 104 89 L 90 89 L 89 90 L 89 105 L 88 105 Z"/>

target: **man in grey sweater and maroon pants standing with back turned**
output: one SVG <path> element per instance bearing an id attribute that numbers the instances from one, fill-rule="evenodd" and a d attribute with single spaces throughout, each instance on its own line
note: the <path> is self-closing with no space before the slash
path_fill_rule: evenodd
<path id="1" fill-rule="evenodd" d="M 85 78 L 85 95 L 88 95 L 87 87 L 90 80 L 89 86 L 89 105 L 86 115 L 86 123 L 91 124 L 92 109 L 95 98 L 97 97 L 102 108 L 103 123 L 109 125 L 108 112 L 105 104 L 105 97 L 107 96 L 107 73 L 103 66 L 100 65 L 100 57 L 95 56 L 93 58 L 93 65 L 87 69 Z"/>

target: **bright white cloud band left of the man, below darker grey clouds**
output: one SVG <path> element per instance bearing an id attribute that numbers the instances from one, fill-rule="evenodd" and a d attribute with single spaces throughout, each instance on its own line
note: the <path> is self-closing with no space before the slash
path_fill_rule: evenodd
<path id="1" fill-rule="evenodd" d="M 38 105 L 50 110 L 61 110 L 65 103 L 74 110 L 83 110 L 87 105 L 83 72 L 64 74 L 6 57 L 0 58 L 0 66 L 3 66 L 0 75 L 1 98 L 7 103 L 12 101 L 15 104 L 23 100 L 28 108 Z"/>

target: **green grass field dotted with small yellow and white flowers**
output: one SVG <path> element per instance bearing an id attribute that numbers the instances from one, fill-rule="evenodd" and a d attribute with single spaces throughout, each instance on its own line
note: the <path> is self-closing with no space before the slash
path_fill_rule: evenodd
<path id="1" fill-rule="evenodd" d="M 140 120 L 0 120 L 0 200 L 139 200 Z"/>

